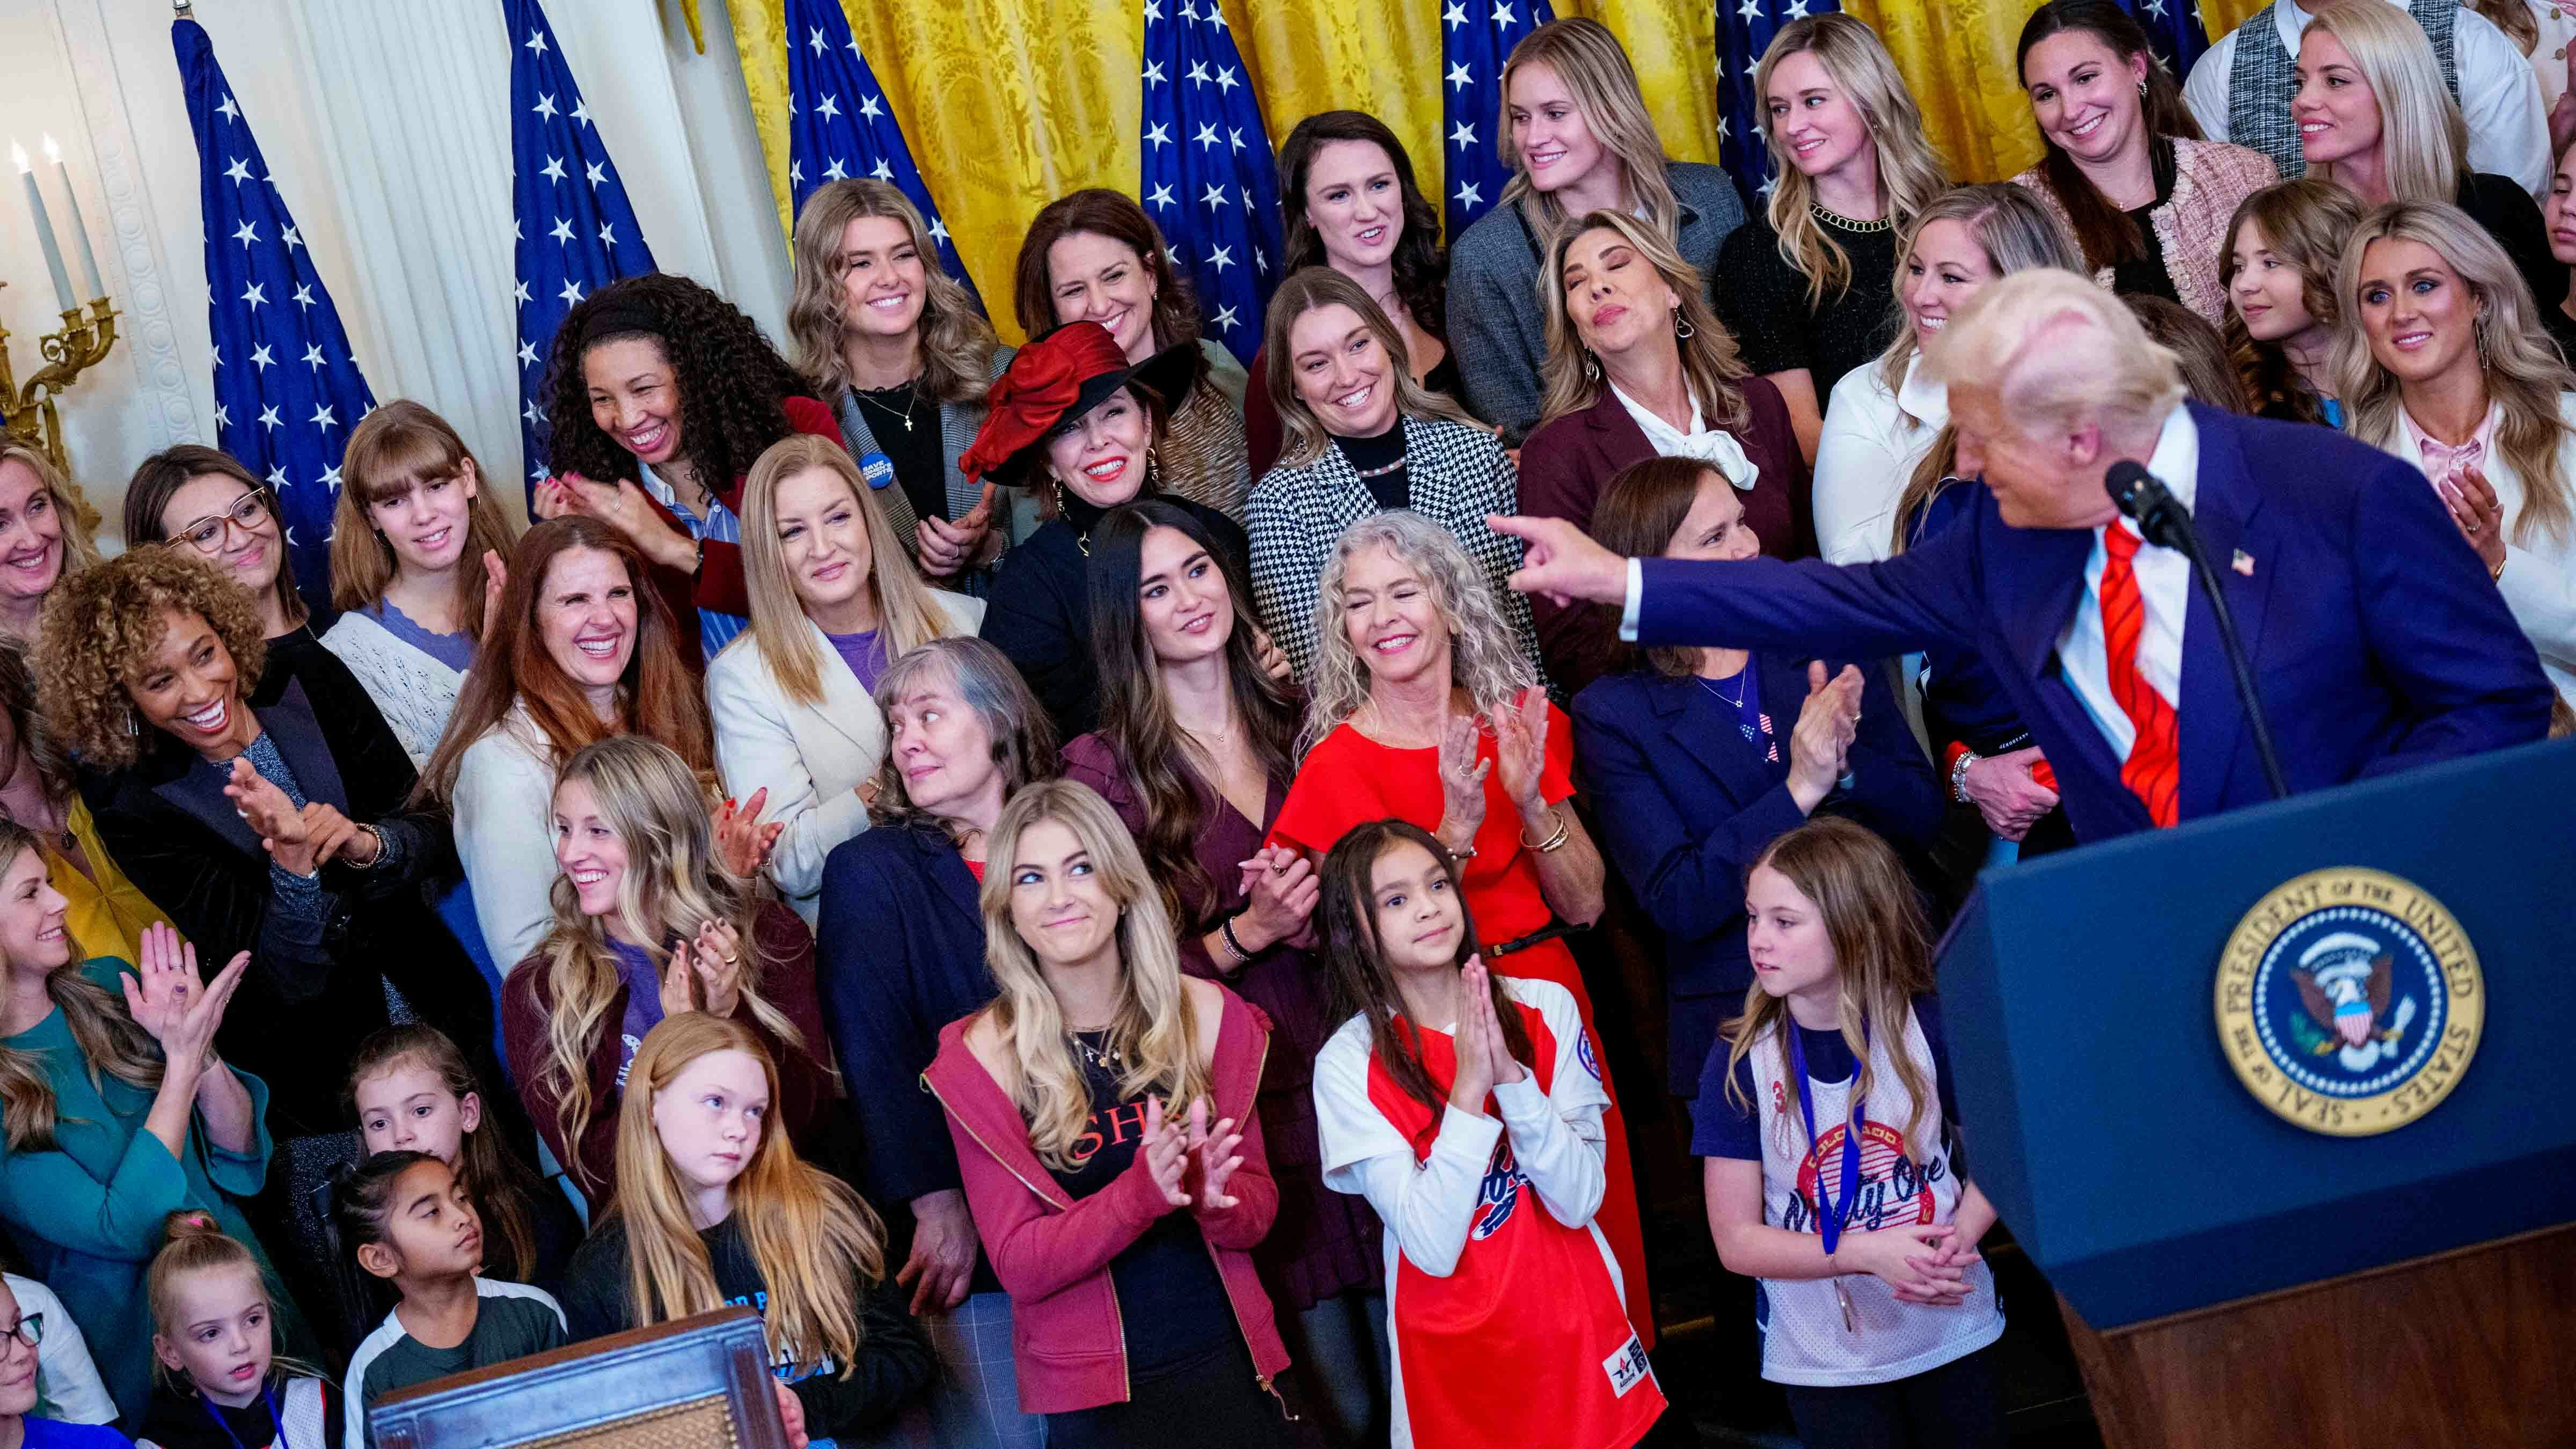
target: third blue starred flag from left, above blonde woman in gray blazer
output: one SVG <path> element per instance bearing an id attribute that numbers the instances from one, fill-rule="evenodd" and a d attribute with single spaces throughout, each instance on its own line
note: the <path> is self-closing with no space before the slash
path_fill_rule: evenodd
<path id="1" fill-rule="evenodd" d="M 981 304 L 956 242 L 948 240 L 940 206 L 930 199 L 922 170 L 912 165 L 904 129 L 886 108 L 886 88 L 876 83 L 858 36 L 850 34 L 850 15 L 840 0 L 786 0 L 786 5 L 788 196 L 796 209 L 804 209 L 804 199 L 827 180 L 845 175 L 891 180 L 930 224 L 940 268 L 963 281 Z"/>

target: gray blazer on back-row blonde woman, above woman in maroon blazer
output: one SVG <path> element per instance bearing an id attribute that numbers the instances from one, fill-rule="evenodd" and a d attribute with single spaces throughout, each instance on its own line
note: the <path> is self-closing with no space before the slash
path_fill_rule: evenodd
<path id="1" fill-rule="evenodd" d="M 1672 196 L 1682 204 L 1682 260 L 1703 276 L 1718 260 L 1718 242 L 1744 224 L 1744 199 L 1726 170 L 1700 162 L 1664 162 Z M 1548 356 L 1548 309 L 1538 299 L 1538 258 L 1548 237 L 1538 222 L 1522 224 L 1520 206 L 1497 206 L 1450 242 L 1448 343 L 1458 356 L 1466 405 L 1520 443 L 1538 425 L 1538 366 Z"/>

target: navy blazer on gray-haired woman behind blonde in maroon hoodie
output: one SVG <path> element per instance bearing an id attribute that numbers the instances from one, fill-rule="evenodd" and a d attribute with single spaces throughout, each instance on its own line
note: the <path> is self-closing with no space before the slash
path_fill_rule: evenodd
<path id="1" fill-rule="evenodd" d="M 863 1132 L 868 1201 L 902 1212 L 922 1194 L 963 1186 L 922 1070 L 940 1055 L 940 1026 L 999 987 L 984 967 L 974 871 L 945 833 L 881 825 L 832 846 L 814 977 Z"/>

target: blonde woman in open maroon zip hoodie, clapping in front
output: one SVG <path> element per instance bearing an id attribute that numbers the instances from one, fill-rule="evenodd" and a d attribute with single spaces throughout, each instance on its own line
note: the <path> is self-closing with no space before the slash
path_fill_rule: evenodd
<path id="1" fill-rule="evenodd" d="M 922 1080 L 1010 1292 L 1020 1403 L 1048 1449 L 1293 1444 L 1252 1269 L 1278 1209 L 1252 1111 L 1267 1026 L 1180 975 L 1162 892 L 1087 784 L 1012 797 L 989 861 L 999 995 L 940 1031 Z"/>

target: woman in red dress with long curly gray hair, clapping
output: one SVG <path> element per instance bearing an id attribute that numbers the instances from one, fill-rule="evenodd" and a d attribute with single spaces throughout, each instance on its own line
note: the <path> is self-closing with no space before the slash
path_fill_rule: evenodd
<path id="1" fill-rule="evenodd" d="M 1558 923 L 1602 913 L 1602 856 L 1566 804 L 1574 730 L 1530 676 L 1484 572 L 1445 529 L 1394 508 L 1352 523 L 1316 603 L 1306 758 L 1270 838 L 1321 859 L 1350 828 L 1406 820 L 1458 861 L 1484 959 L 1574 993 L 1592 1060 L 1592 998 Z M 1654 1343 L 1628 1129 L 1613 1093 L 1602 1235 L 1628 1318 Z"/>

